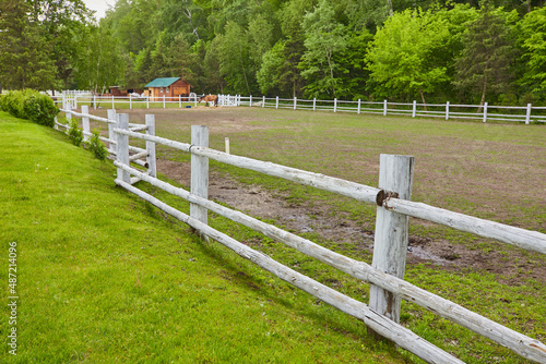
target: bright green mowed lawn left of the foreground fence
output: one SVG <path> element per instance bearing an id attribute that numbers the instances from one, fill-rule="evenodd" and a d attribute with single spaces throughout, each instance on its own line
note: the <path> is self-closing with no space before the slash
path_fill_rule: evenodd
<path id="1" fill-rule="evenodd" d="M 358 320 L 201 243 L 116 187 L 111 163 L 63 134 L 0 112 L 0 362 L 413 362 Z M 7 345 L 10 242 L 16 356 Z"/>

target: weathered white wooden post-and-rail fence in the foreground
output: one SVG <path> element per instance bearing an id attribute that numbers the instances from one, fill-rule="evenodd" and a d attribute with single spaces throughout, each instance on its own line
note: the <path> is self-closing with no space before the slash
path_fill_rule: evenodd
<path id="1" fill-rule="evenodd" d="M 211 149 L 209 148 L 207 126 L 193 125 L 191 128 L 191 143 L 182 143 L 155 136 L 153 116 L 146 116 L 145 124 L 133 124 L 129 123 L 128 114 L 116 113 L 115 110 L 108 110 L 107 119 L 94 117 L 84 112 L 85 110 L 82 110 L 82 113 L 70 109 L 62 111 L 69 117 L 82 118 L 84 130 L 86 119 L 108 123 L 111 134 L 110 137 L 104 139 L 110 144 L 110 153 L 115 155 L 114 165 L 117 167 L 116 184 L 189 225 L 204 239 L 210 238 L 227 246 L 241 257 L 249 259 L 286 282 L 363 320 L 372 332 L 393 341 L 424 361 L 428 363 L 462 363 L 459 359 L 400 325 L 401 300 L 418 304 L 443 318 L 509 348 L 527 360 L 546 363 L 546 345 L 541 341 L 517 332 L 403 280 L 410 216 L 546 254 L 546 234 L 412 202 L 410 198 L 413 184 L 414 157 L 381 155 L 379 173 L 381 189 L 376 189 L 337 178 Z M 67 128 L 63 124 L 58 124 L 58 126 Z M 146 149 L 131 147 L 129 144 L 130 137 L 145 141 Z M 155 159 L 155 144 L 191 154 L 190 191 L 176 187 L 157 179 L 155 163 L 152 166 L 154 162 L 152 159 Z M 140 160 L 139 162 L 139 158 L 144 156 L 146 160 Z M 337 193 L 359 202 L 377 204 L 372 264 L 368 265 L 348 258 L 310 240 L 207 199 L 209 159 Z M 134 168 L 131 163 L 145 167 L 146 170 Z M 186 215 L 136 189 L 133 186 L 136 181 L 147 182 L 188 201 L 190 203 L 190 215 Z M 371 284 L 369 305 L 314 281 L 215 230 L 207 225 L 209 210 L 259 231 L 268 238 L 296 248 L 357 279 L 369 282 Z"/>

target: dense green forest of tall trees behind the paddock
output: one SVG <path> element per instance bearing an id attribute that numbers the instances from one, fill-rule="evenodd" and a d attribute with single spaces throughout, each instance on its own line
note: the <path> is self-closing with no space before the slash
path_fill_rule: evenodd
<path id="1" fill-rule="evenodd" d="M 543 0 L 0 0 L 0 85 L 546 102 Z"/>

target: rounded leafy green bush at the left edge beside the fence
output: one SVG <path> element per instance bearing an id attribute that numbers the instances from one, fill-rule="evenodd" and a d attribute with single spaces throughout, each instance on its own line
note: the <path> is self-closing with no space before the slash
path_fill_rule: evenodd
<path id="1" fill-rule="evenodd" d="M 8 92 L 0 97 L 0 109 L 15 118 L 28 119 L 46 126 L 55 125 L 59 109 L 49 96 L 33 89 Z"/>

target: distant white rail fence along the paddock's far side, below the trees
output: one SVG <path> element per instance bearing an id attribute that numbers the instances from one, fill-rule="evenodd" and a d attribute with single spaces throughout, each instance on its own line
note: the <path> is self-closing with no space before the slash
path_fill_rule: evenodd
<path id="1" fill-rule="evenodd" d="M 382 116 L 412 116 L 427 118 L 450 119 L 474 119 L 487 121 L 515 121 L 530 124 L 533 122 L 546 122 L 546 107 L 534 107 L 527 104 L 520 106 L 494 106 L 487 102 L 479 105 L 456 105 L 450 104 L 412 104 L 383 101 L 346 101 L 346 100 L 312 100 L 277 97 L 252 97 L 240 95 L 218 95 L 219 106 L 248 106 L 275 109 L 312 110 L 312 111 L 333 111 L 333 112 L 354 112 L 354 113 L 373 113 Z M 476 111 L 473 111 L 476 109 Z"/>

